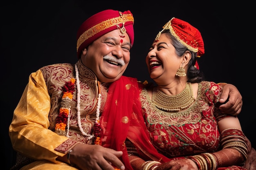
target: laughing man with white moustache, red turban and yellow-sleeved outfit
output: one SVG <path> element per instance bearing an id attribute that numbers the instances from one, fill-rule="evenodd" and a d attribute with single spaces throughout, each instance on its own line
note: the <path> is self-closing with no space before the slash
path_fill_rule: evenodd
<path id="1" fill-rule="evenodd" d="M 124 170 L 124 163 L 132 169 L 124 161 L 124 141 L 138 84 L 122 74 L 130 61 L 133 23 L 130 11 L 92 15 L 77 33 L 76 64 L 31 73 L 9 126 L 18 152 L 12 169 Z M 236 87 L 225 85 L 223 100 L 229 91 L 231 102 L 221 107 L 237 114 L 242 97 Z M 116 119 L 108 119 L 114 113 Z"/>

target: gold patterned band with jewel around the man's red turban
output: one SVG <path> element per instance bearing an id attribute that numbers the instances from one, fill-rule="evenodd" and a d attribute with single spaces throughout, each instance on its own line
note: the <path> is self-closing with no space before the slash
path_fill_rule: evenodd
<path id="1" fill-rule="evenodd" d="M 82 35 L 80 35 L 79 39 L 77 40 L 76 51 L 78 51 L 79 46 L 81 46 L 81 44 L 83 42 L 85 42 L 86 40 L 88 40 L 90 37 L 92 37 L 93 35 L 101 32 L 105 29 L 108 29 L 112 26 L 115 26 L 115 25 L 117 26 L 117 25 L 123 23 L 123 27 L 122 27 L 122 29 L 120 29 L 120 31 L 121 31 L 121 33 L 123 33 L 123 32 L 126 33 L 124 24 L 129 21 L 134 22 L 134 18 L 132 16 L 132 14 L 124 14 L 124 15 L 120 14 L 120 16 L 118 16 L 118 17 L 111 18 L 106 21 L 102 21 L 99 24 L 92 26 L 90 29 L 86 30 Z"/>

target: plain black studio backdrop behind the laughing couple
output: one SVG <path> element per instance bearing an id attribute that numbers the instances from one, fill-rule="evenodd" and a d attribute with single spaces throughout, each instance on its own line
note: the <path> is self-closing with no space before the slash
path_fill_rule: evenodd
<path id="1" fill-rule="evenodd" d="M 172 17 L 185 20 L 202 34 L 205 54 L 199 59 L 209 81 L 234 84 L 243 96 L 240 115 L 245 135 L 256 148 L 256 113 L 253 5 L 224 1 L 94 1 L 52 0 L 2 2 L 1 17 L 1 106 L 4 164 L 15 159 L 8 135 L 13 110 L 27 84 L 29 74 L 55 63 L 75 63 L 76 31 L 88 17 L 105 9 L 130 10 L 135 18 L 135 42 L 124 75 L 148 80 L 145 57 L 162 26 Z"/>

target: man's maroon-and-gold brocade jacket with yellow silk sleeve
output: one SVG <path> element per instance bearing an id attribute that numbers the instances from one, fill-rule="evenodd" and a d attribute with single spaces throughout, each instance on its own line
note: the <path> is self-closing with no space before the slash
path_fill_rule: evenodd
<path id="1" fill-rule="evenodd" d="M 77 62 L 80 79 L 80 113 L 81 125 L 87 134 L 92 134 L 96 120 L 98 85 L 96 75 L 86 68 L 81 61 Z M 53 64 L 40 68 L 29 76 L 29 82 L 22 94 L 20 102 L 13 113 L 9 126 L 9 136 L 13 149 L 32 159 L 45 159 L 54 163 L 58 156 L 70 150 L 62 145 L 67 139 L 74 142 L 92 144 L 92 139 L 82 135 L 77 124 L 77 89 L 73 95 L 70 112 L 69 136 L 57 135 L 54 132 L 55 120 L 61 107 L 63 86 L 71 78 L 75 78 L 74 64 Z M 76 84 L 76 83 L 75 83 Z M 109 84 L 101 84 L 101 107 L 103 111 L 107 99 Z M 55 150 L 60 146 L 62 152 Z M 43 154 L 42 154 L 43 153 Z M 19 158 L 20 159 L 20 158 Z"/>

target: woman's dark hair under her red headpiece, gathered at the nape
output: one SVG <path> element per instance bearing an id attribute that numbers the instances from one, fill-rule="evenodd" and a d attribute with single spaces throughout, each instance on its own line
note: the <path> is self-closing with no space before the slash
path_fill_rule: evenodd
<path id="1" fill-rule="evenodd" d="M 186 46 L 180 43 L 171 33 L 169 30 L 164 30 L 162 33 L 166 33 L 166 35 L 172 40 L 171 44 L 174 46 L 176 54 L 178 56 L 182 56 L 186 51 L 190 51 Z M 195 68 L 195 62 L 197 53 L 190 51 L 191 53 L 191 60 L 189 61 L 188 71 L 186 75 L 188 76 L 188 82 L 191 83 L 198 83 L 204 80 L 204 74 L 202 71 Z"/>

